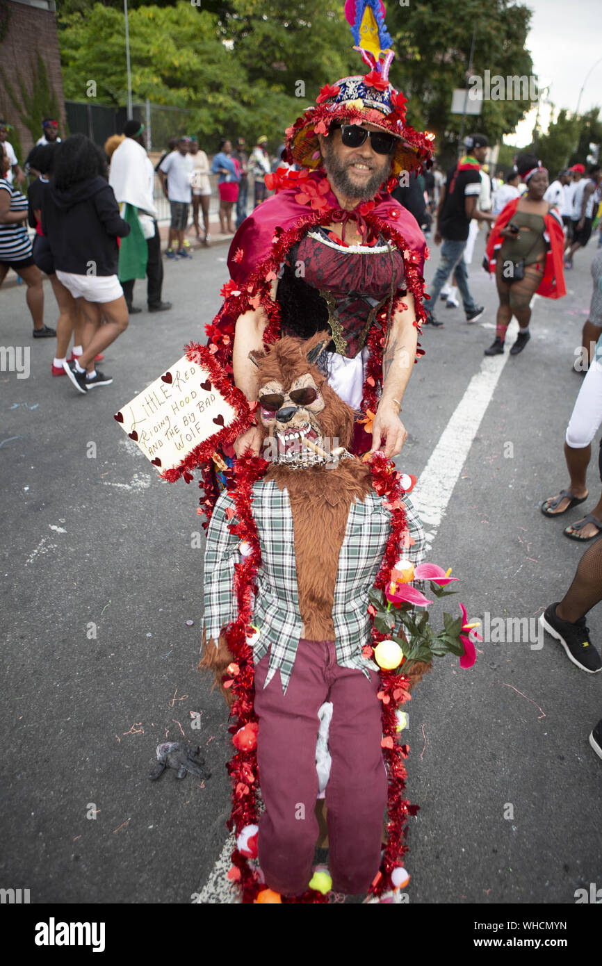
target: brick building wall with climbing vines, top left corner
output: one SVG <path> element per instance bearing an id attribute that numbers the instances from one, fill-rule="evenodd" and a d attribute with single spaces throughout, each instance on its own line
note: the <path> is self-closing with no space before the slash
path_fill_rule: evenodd
<path id="1" fill-rule="evenodd" d="M 61 134 L 64 135 L 66 131 L 55 12 L 54 0 L 0 0 L 0 118 L 15 128 L 9 140 L 16 154 L 20 155 L 21 163 L 42 135 L 45 113 L 42 104 L 48 100 L 42 93 L 44 78 L 43 71 L 41 73 L 39 69 L 38 53 L 45 68 L 50 99 L 54 99 L 56 104 Z M 23 103 L 19 77 L 30 99 L 26 104 Z M 31 118 L 33 131 L 19 115 Z"/>

